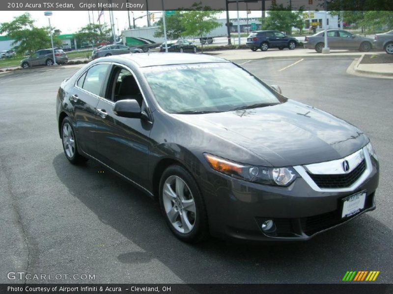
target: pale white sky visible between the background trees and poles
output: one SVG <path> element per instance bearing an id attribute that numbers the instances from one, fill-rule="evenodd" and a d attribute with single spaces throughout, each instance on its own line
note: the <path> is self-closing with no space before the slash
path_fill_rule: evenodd
<path id="1" fill-rule="evenodd" d="M 36 23 L 35 23 L 36 26 L 41 27 L 41 26 L 48 25 L 48 19 L 47 19 L 47 17 L 44 16 L 44 11 L 0 11 L 0 23 L 10 22 L 14 19 L 14 17 L 17 17 L 25 12 L 30 13 L 31 17 L 36 21 Z M 53 16 L 51 17 L 51 24 L 53 27 L 56 27 L 56 29 L 60 29 L 62 34 L 75 33 L 82 26 L 88 25 L 89 14 L 90 14 L 91 22 L 92 22 L 91 11 L 90 12 L 88 12 L 88 11 L 53 11 Z M 98 12 L 94 11 L 93 14 L 94 14 L 94 23 L 97 23 Z M 134 12 L 135 18 L 138 18 L 142 15 L 146 15 L 146 11 L 135 11 Z M 161 12 L 157 11 L 157 13 L 155 13 L 156 21 L 159 18 L 161 18 L 161 15 L 162 15 Z M 128 28 L 127 11 L 113 11 L 113 16 L 115 18 L 114 25 L 115 25 L 116 33 L 117 33 L 117 24 L 118 24 L 119 32 L 121 32 L 125 28 Z M 132 25 L 132 16 L 133 16 L 133 14 L 130 11 L 131 25 Z M 229 17 L 236 18 L 237 12 L 230 11 Z M 239 17 L 246 18 L 247 17 L 246 11 L 239 11 Z M 260 18 L 260 17 L 261 17 L 260 11 L 252 11 L 251 14 L 249 14 L 249 18 Z M 106 23 L 109 25 L 110 19 L 109 19 L 109 12 L 108 11 L 105 11 L 104 17 L 100 18 L 101 23 L 103 22 L 104 18 L 105 18 Z M 117 21 L 116 21 L 116 18 L 117 18 Z M 226 14 L 221 13 L 217 16 L 217 18 L 219 18 L 219 19 L 226 18 Z M 135 24 L 138 26 L 147 25 L 146 17 L 136 20 Z"/>

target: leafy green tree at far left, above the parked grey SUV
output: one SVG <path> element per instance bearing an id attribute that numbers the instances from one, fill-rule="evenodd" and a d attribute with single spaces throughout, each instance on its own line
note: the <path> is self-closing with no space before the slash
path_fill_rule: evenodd
<path id="1" fill-rule="evenodd" d="M 26 51 L 31 54 L 38 49 L 51 47 L 49 28 L 36 27 L 29 13 L 15 17 L 12 22 L 2 23 L 0 34 L 2 33 L 6 33 L 10 39 L 14 40 L 12 46 L 16 49 L 17 54 L 22 55 Z M 59 45 L 59 42 L 55 37 L 54 45 Z"/>

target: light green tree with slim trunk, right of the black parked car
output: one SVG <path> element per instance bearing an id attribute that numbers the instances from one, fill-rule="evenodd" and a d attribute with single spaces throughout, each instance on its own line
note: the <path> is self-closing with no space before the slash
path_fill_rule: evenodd
<path id="1" fill-rule="evenodd" d="M 185 28 L 182 36 L 207 38 L 213 29 L 221 26 L 220 23 L 216 22 L 215 17 L 220 12 L 211 10 L 209 6 L 202 6 L 202 2 L 195 2 L 191 6 L 191 10 L 182 13 L 181 17 Z M 203 53 L 203 42 L 201 42 L 201 45 Z"/>

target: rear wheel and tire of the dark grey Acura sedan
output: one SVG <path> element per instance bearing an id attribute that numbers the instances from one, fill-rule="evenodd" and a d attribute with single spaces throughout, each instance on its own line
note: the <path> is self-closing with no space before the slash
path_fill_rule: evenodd
<path id="1" fill-rule="evenodd" d="M 74 128 L 72 127 L 71 120 L 68 117 L 65 117 L 61 123 L 61 141 L 63 143 L 62 145 L 65 157 L 69 162 L 72 164 L 79 164 L 87 160 L 86 157 L 82 156 L 78 152 L 78 144 L 75 138 Z"/>

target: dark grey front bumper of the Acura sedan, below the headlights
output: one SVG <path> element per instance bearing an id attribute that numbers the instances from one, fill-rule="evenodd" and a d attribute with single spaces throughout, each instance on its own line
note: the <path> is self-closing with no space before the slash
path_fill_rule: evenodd
<path id="1" fill-rule="evenodd" d="M 200 184 L 211 234 L 251 241 L 305 241 L 312 236 L 375 209 L 378 162 L 371 158 L 369 174 L 353 191 L 315 191 L 302 177 L 288 187 L 255 184 L 209 171 Z M 345 190 L 345 189 L 343 189 Z M 366 191 L 359 213 L 341 219 L 342 199 Z M 273 220 L 276 230 L 265 233 L 261 224 Z"/>

